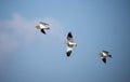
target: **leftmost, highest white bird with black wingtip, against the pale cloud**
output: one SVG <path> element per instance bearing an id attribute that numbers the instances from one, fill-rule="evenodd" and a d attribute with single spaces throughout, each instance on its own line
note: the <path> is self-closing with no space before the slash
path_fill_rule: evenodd
<path id="1" fill-rule="evenodd" d="M 44 35 L 46 35 L 46 30 L 50 29 L 49 24 L 43 23 L 43 22 L 39 22 L 39 25 L 37 25 L 36 28 L 40 29 L 40 31 Z"/>

